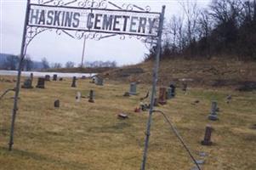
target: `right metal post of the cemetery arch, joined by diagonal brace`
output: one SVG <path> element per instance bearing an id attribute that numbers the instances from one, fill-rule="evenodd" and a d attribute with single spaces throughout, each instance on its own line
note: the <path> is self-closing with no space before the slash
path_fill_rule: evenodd
<path id="1" fill-rule="evenodd" d="M 165 13 L 165 6 L 162 6 L 162 14 L 160 17 L 159 23 L 159 30 L 158 30 L 158 39 L 157 39 L 157 46 L 156 46 L 156 62 L 153 72 L 153 85 L 152 85 L 152 93 L 151 93 L 151 108 L 149 111 L 149 118 L 147 122 L 146 132 L 145 132 L 145 146 L 144 146 L 144 153 L 143 153 L 143 160 L 141 163 L 141 170 L 145 170 L 145 163 L 147 158 L 147 150 L 149 146 L 149 140 L 151 135 L 151 122 L 152 122 L 152 114 L 154 111 L 154 100 L 156 96 L 156 85 L 157 85 L 157 77 L 158 77 L 158 67 L 159 67 L 159 59 L 161 53 L 161 43 L 162 43 L 162 28 L 163 28 L 163 20 L 164 20 L 164 13 Z"/>

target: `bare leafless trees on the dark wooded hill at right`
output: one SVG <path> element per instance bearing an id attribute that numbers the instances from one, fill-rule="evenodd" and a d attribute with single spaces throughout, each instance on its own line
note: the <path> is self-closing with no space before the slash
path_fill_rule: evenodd
<path id="1" fill-rule="evenodd" d="M 256 59 L 256 0 L 179 1 L 183 14 L 165 20 L 162 58 Z M 146 59 L 155 54 L 154 48 Z"/>

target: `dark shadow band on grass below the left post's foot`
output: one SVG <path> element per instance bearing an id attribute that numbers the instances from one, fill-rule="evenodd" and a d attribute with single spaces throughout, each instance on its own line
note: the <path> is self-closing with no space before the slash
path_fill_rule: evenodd
<path id="1" fill-rule="evenodd" d="M 33 160 L 35 163 L 36 161 L 40 161 L 40 164 L 45 165 L 51 164 L 53 167 L 65 167 L 68 169 L 88 169 L 88 165 L 84 163 L 79 163 L 77 161 L 63 161 L 61 159 L 56 159 L 51 156 L 43 156 L 42 154 L 31 152 L 29 150 L 17 150 L 13 149 L 12 151 L 9 151 L 8 148 L 5 148 L 3 146 L 0 146 L 0 157 L 16 157 L 18 159 L 22 160 Z M 8 158 L 7 158 L 8 159 Z M 40 166 L 40 165 L 38 165 Z"/>

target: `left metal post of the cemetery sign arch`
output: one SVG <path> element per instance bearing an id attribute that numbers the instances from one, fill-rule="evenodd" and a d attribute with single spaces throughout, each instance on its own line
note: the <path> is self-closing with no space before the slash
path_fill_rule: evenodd
<path id="1" fill-rule="evenodd" d="M 26 3 L 26 16 L 25 16 L 25 21 L 24 21 L 23 37 L 22 37 L 21 49 L 20 49 L 20 63 L 19 63 L 19 68 L 18 68 L 16 88 L 15 88 L 14 109 L 13 109 L 13 114 L 12 114 L 10 139 L 9 139 L 9 150 L 12 150 L 12 146 L 14 144 L 14 123 L 15 123 L 16 112 L 18 110 L 18 98 L 19 98 L 19 93 L 20 93 L 21 69 L 22 69 L 23 60 L 26 55 L 26 47 L 25 47 L 26 46 L 26 26 L 27 26 L 28 20 L 29 20 L 30 2 L 31 2 L 30 0 L 27 0 L 27 3 Z"/>

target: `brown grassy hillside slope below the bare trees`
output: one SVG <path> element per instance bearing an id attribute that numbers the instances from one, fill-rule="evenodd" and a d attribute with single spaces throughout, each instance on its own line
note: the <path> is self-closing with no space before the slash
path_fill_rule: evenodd
<path id="1" fill-rule="evenodd" d="M 105 77 L 114 80 L 138 81 L 149 83 L 152 80 L 154 63 L 148 61 L 114 71 L 107 71 Z M 138 72 L 130 72 L 133 69 Z M 245 82 L 254 82 L 256 87 L 256 62 L 242 62 L 230 59 L 165 59 L 160 63 L 158 82 L 168 85 L 180 84 L 181 79 L 196 86 L 239 86 Z"/>

